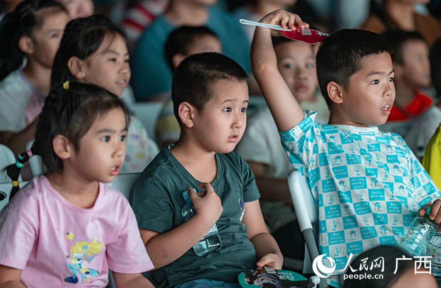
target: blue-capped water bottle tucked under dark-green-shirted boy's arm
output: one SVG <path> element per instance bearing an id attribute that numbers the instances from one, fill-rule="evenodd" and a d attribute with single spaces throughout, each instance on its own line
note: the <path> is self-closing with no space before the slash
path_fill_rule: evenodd
<path id="1" fill-rule="evenodd" d="M 196 193 L 196 190 L 194 190 L 194 192 Z M 196 211 L 191 203 L 190 196 L 188 196 L 188 191 L 184 191 L 182 196 L 186 203 L 182 208 L 182 217 L 184 218 L 184 221 L 187 221 L 196 215 Z M 204 256 L 210 252 L 217 251 L 220 248 L 222 248 L 222 240 L 220 240 L 219 233 L 217 232 L 216 223 L 214 223 L 213 227 L 208 231 L 204 238 L 193 245 L 194 253 L 197 256 Z"/>

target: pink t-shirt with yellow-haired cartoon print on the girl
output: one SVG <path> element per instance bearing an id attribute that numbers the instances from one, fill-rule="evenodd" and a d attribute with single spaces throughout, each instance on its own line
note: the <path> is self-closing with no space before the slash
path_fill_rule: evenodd
<path id="1" fill-rule="evenodd" d="M 99 183 L 94 206 L 83 209 L 43 175 L 0 212 L 0 264 L 23 270 L 21 281 L 28 288 L 104 287 L 108 269 L 154 268 L 122 193 Z"/>

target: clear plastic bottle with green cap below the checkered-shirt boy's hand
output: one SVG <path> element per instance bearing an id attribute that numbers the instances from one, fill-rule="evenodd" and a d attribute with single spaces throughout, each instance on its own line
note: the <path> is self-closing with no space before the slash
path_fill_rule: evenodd
<path id="1" fill-rule="evenodd" d="M 436 231 L 436 225 L 429 218 L 430 207 L 426 209 L 424 216 L 415 217 L 403 239 L 399 241 L 399 248 L 411 256 L 426 256 L 427 244 Z"/>

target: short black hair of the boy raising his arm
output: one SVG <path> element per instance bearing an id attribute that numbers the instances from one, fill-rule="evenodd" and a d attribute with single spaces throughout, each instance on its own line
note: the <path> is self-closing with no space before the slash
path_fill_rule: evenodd
<path id="1" fill-rule="evenodd" d="M 369 55 L 391 53 L 387 40 L 374 32 L 343 29 L 327 37 L 316 56 L 318 85 L 326 104 L 331 107 L 327 85 L 330 81 L 348 89 L 351 76 L 362 68 L 362 60 Z"/>

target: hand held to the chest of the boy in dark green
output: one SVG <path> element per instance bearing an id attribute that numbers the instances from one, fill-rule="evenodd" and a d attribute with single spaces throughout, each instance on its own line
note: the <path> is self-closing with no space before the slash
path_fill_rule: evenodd
<path id="1" fill-rule="evenodd" d="M 214 192 L 210 183 L 201 183 L 199 184 L 199 188 L 205 188 L 205 191 L 196 194 L 193 189 L 189 188 L 188 195 L 196 210 L 196 215 L 213 225 L 217 219 L 219 219 L 224 208 L 222 207 L 219 196 Z"/>

